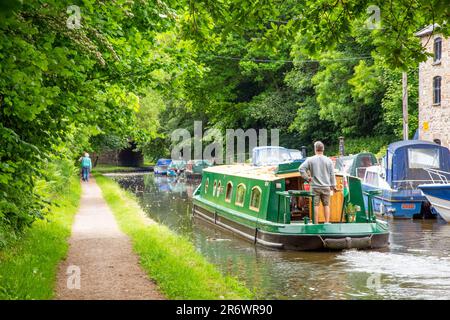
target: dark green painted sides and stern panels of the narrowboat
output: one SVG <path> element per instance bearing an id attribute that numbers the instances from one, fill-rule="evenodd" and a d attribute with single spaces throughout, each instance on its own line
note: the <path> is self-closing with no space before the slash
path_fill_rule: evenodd
<path id="1" fill-rule="evenodd" d="M 297 165 L 298 167 L 298 165 Z M 208 188 L 206 189 L 206 182 Z M 214 182 L 216 182 L 216 190 L 219 188 L 220 193 L 213 196 Z M 232 183 L 233 189 L 231 201 L 225 201 L 225 193 L 227 183 Z M 236 190 L 239 184 L 246 186 L 245 200 L 243 206 L 237 206 Z M 261 205 L 259 212 L 249 208 L 251 190 L 254 187 L 261 188 Z M 264 181 L 257 178 L 247 178 L 237 175 L 227 175 L 222 173 L 203 172 L 202 183 L 194 193 L 194 204 L 202 207 L 210 212 L 216 212 L 218 215 L 235 221 L 239 224 L 258 228 L 267 232 L 277 234 L 320 234 L 320 235 L 368 235 L 377 233 L 387 233 L 388 225 L 385 222 L 376 220 L 372 213 L 366 212 L 364 205 L 361 181 L 358 178 L 349 178 L 349 200 L 344 200 L 344 207 L 347 203 L 358 205 L 360 210 L 357 212 L 356 221 L 347 223 L 332 224 L 305 224 L 303 222 L 291 223 L 290 208 L 286 204 L 284 178 Z M 344 210 L 344 207 L 342 210 Z"/>

